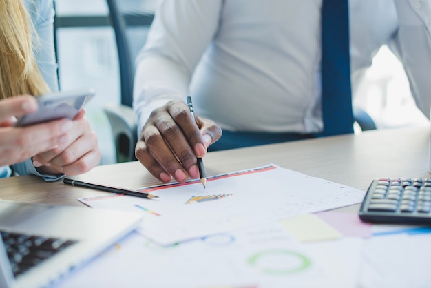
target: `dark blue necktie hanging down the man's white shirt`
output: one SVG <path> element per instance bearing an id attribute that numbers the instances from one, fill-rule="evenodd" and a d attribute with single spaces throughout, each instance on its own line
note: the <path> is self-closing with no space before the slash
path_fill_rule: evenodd
<path id="1" fill-rule="evenodd" d="M 324 136 L 353 133 L 348 0 L 322 3 L 322 114 Z"/>

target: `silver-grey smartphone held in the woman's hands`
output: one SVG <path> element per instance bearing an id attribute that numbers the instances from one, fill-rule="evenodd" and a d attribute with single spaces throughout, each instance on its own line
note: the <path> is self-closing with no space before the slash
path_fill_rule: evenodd
<path id="1" fill-rule="evenodd" d="M 94 97 L 94 89 L 86 88 L 67 92 L 53 92 L 36 96 L 39 102 L 39 109 L 32 113 L 22 116 L 15 123 L 16 126 L 28 126 L 37 123 L 57 119 L 74 119 L 79 110 Z"/>

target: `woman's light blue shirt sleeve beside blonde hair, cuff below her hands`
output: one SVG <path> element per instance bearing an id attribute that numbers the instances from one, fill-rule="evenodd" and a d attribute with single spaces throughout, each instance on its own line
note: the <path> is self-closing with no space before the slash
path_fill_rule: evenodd
<path id="1" fill-rule="evenodd" d="M 59 90 L 57 64 L 54 50 L 54 4 L 53 0 L 25 0 L 36 30 L 38 41 L 35 42 L 34 53 L 39 70 L 50 87 L 50 90 Z M 34 174 L 41 176 L 45 181 L 55 181 L 64 177 L 64 174 L 40 174 L 28 159 L 13 165 L 17 175 Z"/>

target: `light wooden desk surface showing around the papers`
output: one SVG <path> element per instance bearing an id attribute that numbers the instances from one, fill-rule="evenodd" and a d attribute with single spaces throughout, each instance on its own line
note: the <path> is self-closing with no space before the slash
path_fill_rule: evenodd
<path id="1" fill-rule="evenodd" d="M 374 130 L 290 143 L 211 152 L 204 158 L 208 176 L 275 163 L 310 176 L 366 190 L 374 178 L 421 177 L 428 172 L 428 127 Z M 103 165 L 77 179 L 139 188 L 156 180 L 137 161 Z M 34 203 L 82 205 L 76 198 L 105 194 L 91 189 L 46 183 L 36 176 L 0 179 L 0 198 Z M 347 207 L 346 209 L 356 209 Z"/>

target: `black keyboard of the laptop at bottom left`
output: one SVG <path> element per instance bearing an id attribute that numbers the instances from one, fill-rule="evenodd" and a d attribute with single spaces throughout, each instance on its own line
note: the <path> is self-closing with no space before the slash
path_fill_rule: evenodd
<path id="1" fill-rule="evenodd" d="M 77 242 L 21 233 L 0 233 L 15 277 Z"/>

